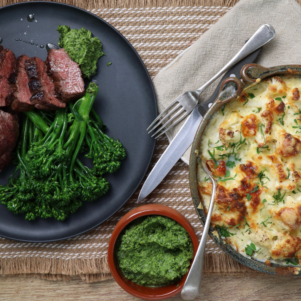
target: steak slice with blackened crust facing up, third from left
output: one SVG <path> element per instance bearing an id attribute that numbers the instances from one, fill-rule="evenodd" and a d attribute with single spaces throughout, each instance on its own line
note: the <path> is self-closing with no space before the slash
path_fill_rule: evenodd
<path id="1" fill-rule="evenodd" d="M 55 97 L 54 83 L 46 73 L 45 63 L 38 57 L 25 60 L 25 70 L 29 78 L 30 98 L 37 109 L 56 110 L 66 107 L 66 104 Z"/>

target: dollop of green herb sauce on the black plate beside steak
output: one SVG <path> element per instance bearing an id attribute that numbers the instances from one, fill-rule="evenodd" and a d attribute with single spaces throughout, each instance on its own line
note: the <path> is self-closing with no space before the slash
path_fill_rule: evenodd
<path id="1" fill-rule="evenodd" d="M 58 45 L 64 48 L 71 60 L 79 64 L 82 77 L 91 79 L 96 74 L 96 64 L 104 53 L 101 42 L 97 37 L 92 37 L 91 31 L 81 29 L 70 29 L 67 25 L 59 25 L 57 31 L 60 33 Z"/>

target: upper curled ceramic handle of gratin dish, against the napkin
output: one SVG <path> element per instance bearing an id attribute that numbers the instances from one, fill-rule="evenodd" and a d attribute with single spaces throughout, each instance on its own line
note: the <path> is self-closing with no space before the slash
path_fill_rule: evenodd
<path id="1" fill-rule="evenodd" d="M 282 65 L 275 67 L 263 67 L 257 64 L 247 64 L 241 69 L 241 78 L 245 84 L 256 82 L 256 79 L 263 79 L 267 76 L 277 74 L 293 75 L 301 74 L 301 65 Z"/>

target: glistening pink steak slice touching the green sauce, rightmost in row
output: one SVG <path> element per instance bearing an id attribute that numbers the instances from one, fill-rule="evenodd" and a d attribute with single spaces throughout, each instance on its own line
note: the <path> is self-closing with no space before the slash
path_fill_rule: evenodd
<path id="1" fill-rule="evenodd" d="M 82 72 L 64 48 L 50 49 L 45 64 L 47 73 L 54 82 L 57 98 L 70 102 L 84 95 Z"/>

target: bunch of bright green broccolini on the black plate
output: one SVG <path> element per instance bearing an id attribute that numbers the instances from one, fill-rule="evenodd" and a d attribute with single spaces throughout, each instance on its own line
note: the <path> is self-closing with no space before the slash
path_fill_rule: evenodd
<path id="1" fill-rule="evenodd" d="M 91 82 L 71 112 L 68 108 L 25 112 L 16 147 L 17 167 L 8 184 L 0 186 L 0 201 L 8 210 L 29 220 L 64 220 L 82 201 L 107 192 L 109 182 L 103 174 L 116 171 L 126 153 L 118 140 L 102 132 L 105 126 L 92 109 L 97 92 Z M 86 156 L 93 158 L 92 168 L 78 158 L 84 148 L 88 148 Z"/>

